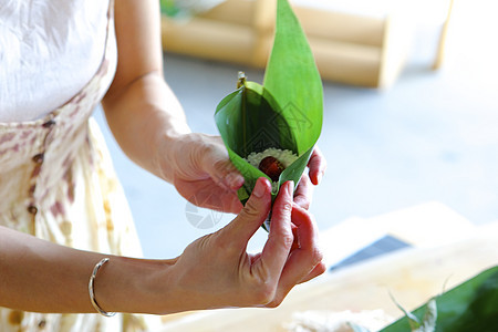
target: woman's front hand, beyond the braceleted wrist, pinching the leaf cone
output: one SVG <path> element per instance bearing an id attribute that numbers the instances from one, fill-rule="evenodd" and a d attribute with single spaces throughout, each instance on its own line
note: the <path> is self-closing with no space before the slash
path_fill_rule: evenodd
<path id="1" fill-rule="evenodd" d="M 292 203 L 293 184 L 286 183 L 273 205 L 268 241 L 249 255 L 249 239 L 260 228 L 271 205 L 267 179 L 257 181 L 240 215 L 219 231 L 189 245 L 168 269 L 176 309 L 277 307 L 298 283 L 324 271 L 312 217 Z M 173 304 L 172 304 L 173 305 Z"/>

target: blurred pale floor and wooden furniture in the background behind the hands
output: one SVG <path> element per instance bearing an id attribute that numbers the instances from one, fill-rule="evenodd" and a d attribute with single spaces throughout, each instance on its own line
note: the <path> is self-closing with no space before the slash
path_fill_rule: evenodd
<path id="1" fill-rule="evenodd" d="M 273 1 L 191 2 L 165 10 L 165 77 L 191 129 L 217 135 L 214 112 L 237 72 L 262 82 Z M 498 220 L 496 1 L 292 3 L 324 83 L 319 146 L 329 167 L 311 207 L 319 228 L 426 203 L 475 225 Z M 145 256 L 176 257 L 234 218 L 187 204 L 123 155 L 101 110 L 95 117 Z M 258 231 L 249 250 L 266 236 Z"/>

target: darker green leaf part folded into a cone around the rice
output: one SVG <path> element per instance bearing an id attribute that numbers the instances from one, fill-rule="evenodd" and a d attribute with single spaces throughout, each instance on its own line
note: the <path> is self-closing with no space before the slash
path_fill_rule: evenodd
<path id="1" fill-rule="evenodd" d="M 259 177 L 271 180 L 261 170 L 247 163 L 245 158 L 250 153 L 260 153 L 270 147 L 298 153 L 295 135 L 289 128 L 279 105 L 258 83 L 245 82 L 237 91 L 225 97 L 216 110 L 215 122 L 231 162 L 246 179 L 243 189 L 239 191 L 242 201 L 249 197 Z M 291 166 L 286 169 L 283 178 L 297 177 L 299 180 L 304 168 L 298 175 L 297 172 L 301 167 Z M 273 196 L 276 195 L 277 193 L 273 193 Z"/>

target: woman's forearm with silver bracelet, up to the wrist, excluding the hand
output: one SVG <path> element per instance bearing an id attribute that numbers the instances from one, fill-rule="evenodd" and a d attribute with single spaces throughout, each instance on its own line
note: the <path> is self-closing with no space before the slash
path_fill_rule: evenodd
<path id="1" fill-rule="evenodd" d="M 58 246 L 0 227 L 0 307 L 34 312 L 95 312 L 89 280 L 101 253 Z M 112 257 L 95 279 L 105 311 L 157 313 L 153 282 L 173 261 Z M 156 284 L 156 283 L 154 283 Z M 166 292 L 164 292 L 165 294 Z"/>

